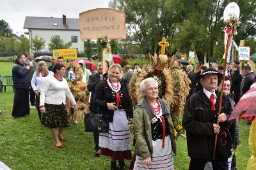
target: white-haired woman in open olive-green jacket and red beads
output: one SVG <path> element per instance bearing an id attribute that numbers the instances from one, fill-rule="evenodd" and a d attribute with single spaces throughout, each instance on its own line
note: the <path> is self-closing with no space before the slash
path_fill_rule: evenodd
<path id="1" fill-rule="evenodd" d="M 145 97 L 134 109 L 134 169 L 174 169 L 176 142 L 170 107 L 157 97 L 154 78 L 141 81 L 140 90 Z"/>

